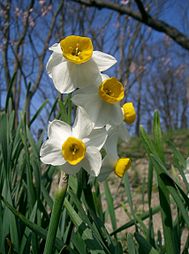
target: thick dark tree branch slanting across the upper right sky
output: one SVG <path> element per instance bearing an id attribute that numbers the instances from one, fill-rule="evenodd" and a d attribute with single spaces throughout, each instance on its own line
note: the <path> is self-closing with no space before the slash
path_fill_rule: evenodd
<path id="1" fill-rule="evenodd" d="M 143 5 L 142 5 L 143 6 L 142 8 L 141 1 L 137 0 L 136 3 L 138 3 L 138 8 L 140 7 L 139 8 L 140 12 L 141 11 L 143 12 L 142 14 L 136 13 L 126 6 L 123 6 L 117 3 L 108 2 L 108 1 L 102 1 L 102 0 L 72 0 L 72 1 L 80 3 L 80 4 L 84 4 L 88 7 L 107 8 L 113 11 L 117 11 L 118 13 L 122 15 L 126 14 L 132 17 L 133 19 L 153 28 L 154 30 L 166 34 L 167 36 L 172 38 L 177 44 L 179 44 L 181 47 L 189 50 L 189 38 L 183 33 L 181 33 L 175 27 L 169 25 L 168 23 L 150 16 L 150 14 L 148 14 L 145 11 Z M 144 18 L 144 11 L 145 11 L 145 18 Z"/>

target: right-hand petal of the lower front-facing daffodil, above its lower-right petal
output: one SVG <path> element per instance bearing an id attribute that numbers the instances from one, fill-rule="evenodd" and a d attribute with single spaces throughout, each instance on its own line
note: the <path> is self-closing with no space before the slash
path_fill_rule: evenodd
<path id="1" fill-rule="evenodd" d="M 104 128 L 95 129 L 87 137 L 86 145 L 95 146 L 100 151 L 107 139 L 107 131 Z"/>

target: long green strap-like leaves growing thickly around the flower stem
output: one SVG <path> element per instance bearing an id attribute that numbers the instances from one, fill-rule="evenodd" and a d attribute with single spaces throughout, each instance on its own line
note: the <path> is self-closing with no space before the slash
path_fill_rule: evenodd
<path id="1" fill-rule="evenodd" d="M 110 182 L 106 181 L 103 186 L 96 180 L 89 183 L 84 171 L 80 171 L 77 178 L 69 178 L 65 199 L 61 201 L 64 201 L 63 206 L 59 199 L 56 203 L 56 194 L 54 199 L 52 193 L 56 193 L 58 188 L 54 182 L 61 167 L 42 165 L 39 150 L 43 137 L 36 141 L 29 128 L 46 102 L 29 126 L 23 113 L 15 126 L 10 98 L 11 94 L 6 112 L 0 114 L 0 253 L 43 253 L 49 233 L 55 240 L 50 247 L 46 244 L 45 253 L 50 253 L 52 247 L 53 253 L 188 253 L 189 236 L 186 235 L 184 242 L 182 240 L 185 229 L 189 228 L 189 187 L 184 174 L 186 161 L 173 143 L 165 142 L 167 138 L 161 133 L 157 112 L 154 114 L 153 134 L 149 136 L 142 127 L 140 129 L 140 143 L 149 162 L 148 180 L 141 187 L 143 206 L 147 203 L 147 210 L 139 211 L 134 203 L 135 192 L 128 172 L 121 183 L 124 198 L 119 204 L 125 209 L 128 220 L 118 226 L 116 195 Z M 59 118 L 70 122 L 70 97 L 64 103 L 58 100 L 55 105 L 57 103 L 61 108 Z M 171 162 L 167 159 L 165 146 L 171 151 Z M 171 175 L 170 165 L 177 175 L 181 175 L 184 186 L 181 187 L 178 178 Z M 157 206 L 152 204 L 154 185 L 157 185 L 159 193 Z M 49 226 L 52 224 L 53 206 L 58 207 L 55 209 L 58 229 Z M 163 229 L 157 233 L 154 216 L 159 213 Z M 111 221 L 111 232 L 105 224 L 107 218 Z"/>

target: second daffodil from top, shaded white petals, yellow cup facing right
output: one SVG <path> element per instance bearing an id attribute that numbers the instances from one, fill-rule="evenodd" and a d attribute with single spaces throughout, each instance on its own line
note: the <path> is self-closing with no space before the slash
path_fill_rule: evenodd
<path id="1" fill-rule="evenodd" d="M 72 97 L 75 105 L 83 107 L 95 127 L 119 125 L 123 120 L 120 101 L 124 97 L 123 85 L 114 77 L 101 75 L 95 86 L 79 89 Z"/>

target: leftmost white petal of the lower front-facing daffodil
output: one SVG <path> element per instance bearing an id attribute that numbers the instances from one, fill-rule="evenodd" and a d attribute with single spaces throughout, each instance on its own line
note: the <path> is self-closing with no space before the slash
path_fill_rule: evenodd
<path id="1" fill-rule="evenodd" d="M 45 164 L 63 165 L 65 160 L 56 139 L 48 139 L 40 149 L 40 159 Z"/>

